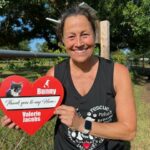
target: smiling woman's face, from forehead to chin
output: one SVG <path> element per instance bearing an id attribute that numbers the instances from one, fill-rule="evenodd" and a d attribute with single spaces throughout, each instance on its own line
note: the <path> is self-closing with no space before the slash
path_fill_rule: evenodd
<path id="1" fill-rule="evenodd" d="M 68 55 L 75 62 L 83 63 L 92 56 L 94 32 L 85 16 L 70 16 L 65 20 L 63 42 Z"/>

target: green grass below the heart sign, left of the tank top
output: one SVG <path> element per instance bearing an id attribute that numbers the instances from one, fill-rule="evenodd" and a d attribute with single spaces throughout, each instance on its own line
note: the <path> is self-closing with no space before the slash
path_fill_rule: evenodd
<path id="1" fill-rule="evenodd" d="M 54 124 L 55 118 L 46 123 L 33 136 L 29 136 L 21 130 L 0 127 L 0 149 L 53 150 Z"/>

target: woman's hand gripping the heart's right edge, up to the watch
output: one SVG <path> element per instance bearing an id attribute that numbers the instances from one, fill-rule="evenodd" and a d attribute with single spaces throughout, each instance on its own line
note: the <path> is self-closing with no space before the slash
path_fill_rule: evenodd
<path id="1" fill-rule="evenodd" d="M 56 108 L 55 114 L 63 124 L 72 130 L 83 130 L 84 119 L 79 117 L 74 107 L 61 105 Z"/>

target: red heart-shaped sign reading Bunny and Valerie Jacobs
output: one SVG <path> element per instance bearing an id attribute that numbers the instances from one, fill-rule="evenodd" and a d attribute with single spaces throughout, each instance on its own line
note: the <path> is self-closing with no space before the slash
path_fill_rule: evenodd
<path id="1" fill-rule="evenodd" d="M 33 135 L 52 118 L 63 96 L 63 86 L 54 77 L 43 76 L 31 83 L 13 75 L 1 82 L 0 108 L 23 131 Z"/>

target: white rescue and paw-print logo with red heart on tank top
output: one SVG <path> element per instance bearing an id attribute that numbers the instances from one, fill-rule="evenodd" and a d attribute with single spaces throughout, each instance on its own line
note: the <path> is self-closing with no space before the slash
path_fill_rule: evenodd
<path id="1" fill-rule="evenodd" d="M 77 112 L 79 116 L 82 116 L 78 110 Z M 91 108 L 90 111 L 87 112 L 85 119 L 96 122 L 111 122 L 112 117 L 112 111 L 109 107 L 100 105 Z M 104 142 L 104 138 L 73 131 L 70 128 L 68 128 L 68 137 L 80 150 L 94 150 Z"/>

